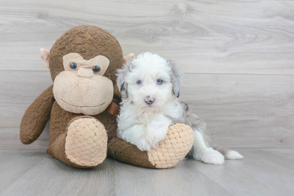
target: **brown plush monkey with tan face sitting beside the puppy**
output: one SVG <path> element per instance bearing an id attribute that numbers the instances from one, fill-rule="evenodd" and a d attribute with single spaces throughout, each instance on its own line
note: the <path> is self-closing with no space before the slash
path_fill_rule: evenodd
<path id="1" fill-rule="evenodd" d="M 47 153 L 74 167 L 97 166 L 108 153 L 134 165 L 169 168 L 192 147 L 193 131 L 185 124 L 171 125 L 166 139 L 148 153 L 116 137 L 120 92 L 115 73 L 134 54 L 124 59 L 119 42 L 104 29 L 74 27 L 50 51 L 41 48 L 40 56 L 54 83 L 22 117 L 22 143 L 34 142 L 51 117 Z"/>

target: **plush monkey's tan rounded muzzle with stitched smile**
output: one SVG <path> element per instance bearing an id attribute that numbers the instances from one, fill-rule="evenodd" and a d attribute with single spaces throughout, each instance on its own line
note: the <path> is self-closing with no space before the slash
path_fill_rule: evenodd
<path id="1" fill-rule="evenodd" d="M 92 74 L 87 71 L 91 71 Z M 91 69 L 60 72 L 53 84 L 53 94 L 64 110 L 85 115 L 96 115 L 108 107 L 113 99 L 113 82 L 93 74 Z"/>

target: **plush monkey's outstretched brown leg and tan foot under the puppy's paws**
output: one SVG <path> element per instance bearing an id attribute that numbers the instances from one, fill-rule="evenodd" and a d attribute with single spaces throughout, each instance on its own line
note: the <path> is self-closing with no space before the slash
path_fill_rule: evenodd
<path id="1" fill-rule="evenodd" d="M 147 168 L 171 168 L 182 160 L 192 148 L 193 130 L 186 124 L 169 127 L 164 141 L 151 152 L 140 151 L 137 146 L 114 137 L 108 143 L 108 155 L 122 162 Z"/>

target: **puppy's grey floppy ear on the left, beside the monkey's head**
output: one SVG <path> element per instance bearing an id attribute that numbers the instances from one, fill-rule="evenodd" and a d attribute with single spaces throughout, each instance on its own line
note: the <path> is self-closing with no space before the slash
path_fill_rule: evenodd
<path id="1" fill-rule="evenodd" d="M 130 70 L 130 66 L 132 65 L 133 58 L 129 58 L 127 62 L 124 64 L 122 69 L 117 70 L 117 79 L 116 83 L 119 87 L 119 92 L 122 94 L 122 98 L 127 97 L 127 89 L 128 89 L 128 83 L 125 80 L 125 76 L 127 75 L 128 71 Z"/>

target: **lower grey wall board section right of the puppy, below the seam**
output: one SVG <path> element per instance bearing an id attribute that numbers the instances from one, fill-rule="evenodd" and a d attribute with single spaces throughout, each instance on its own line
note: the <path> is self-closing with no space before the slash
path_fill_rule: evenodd
<path id="1" fill-rule="evenodd" d="M 294 146 L 292 75 L 185 74 L 182 101 L 206 121 L 213 145 Z"/>

